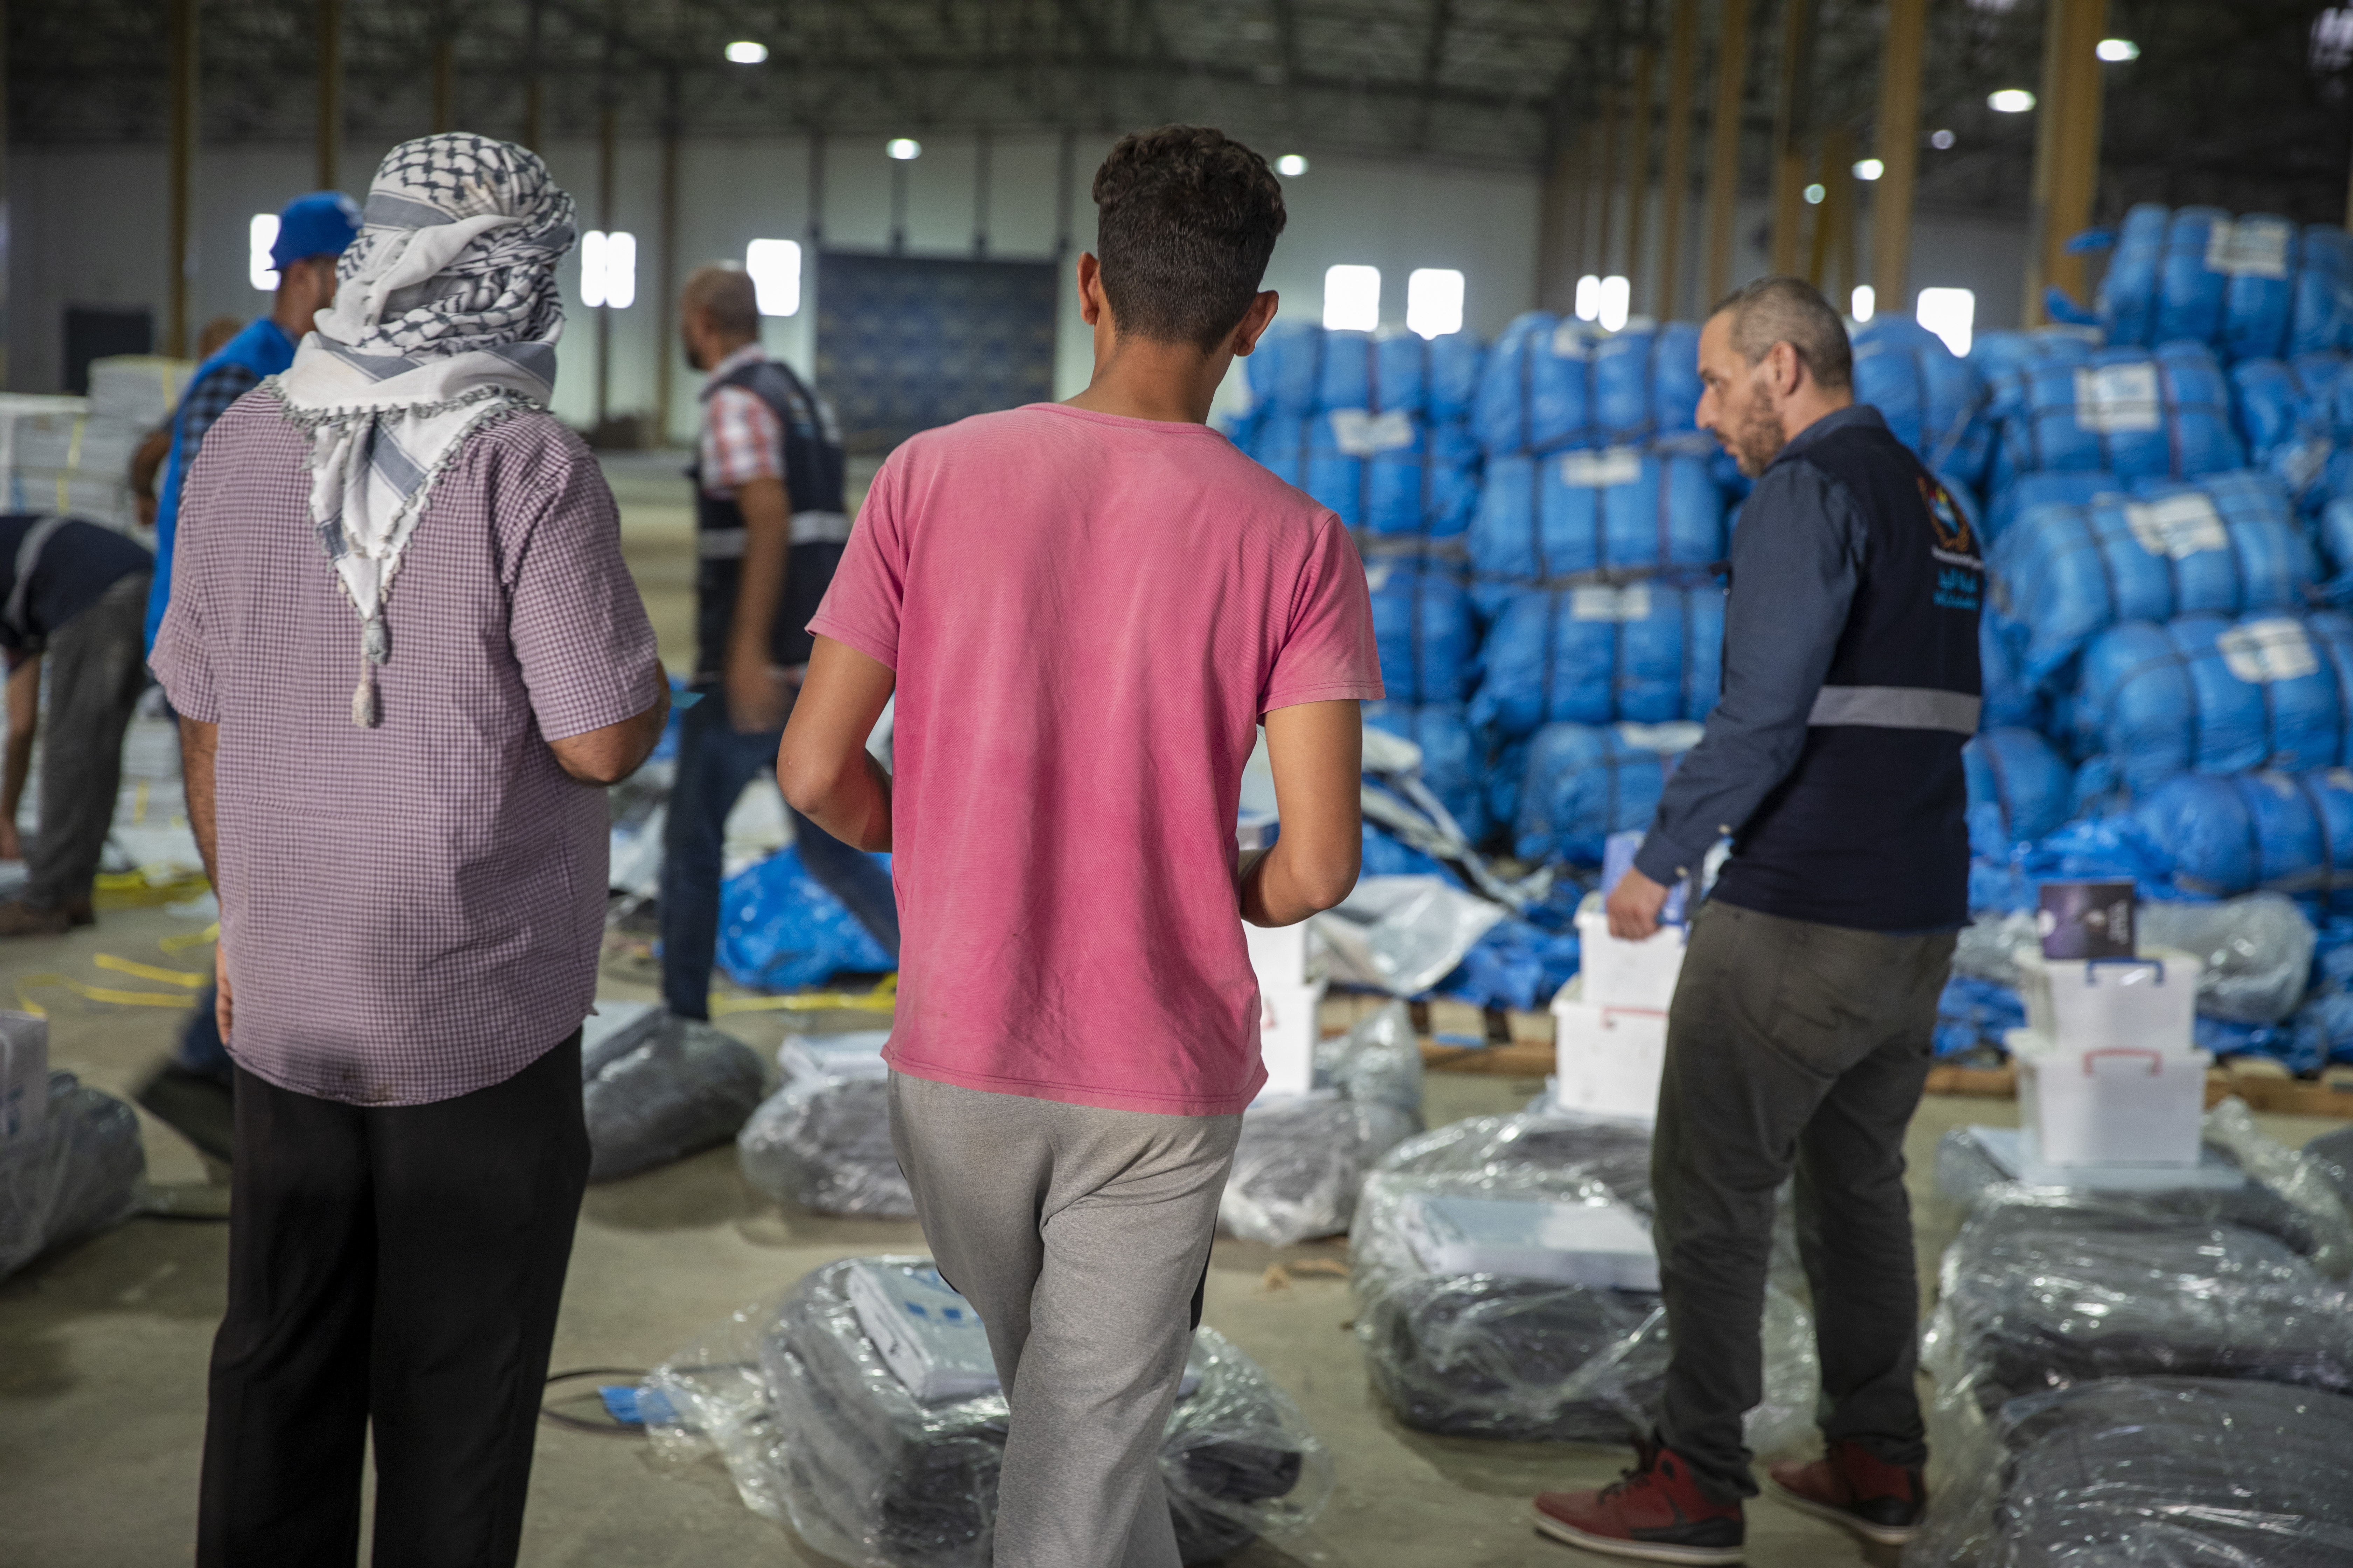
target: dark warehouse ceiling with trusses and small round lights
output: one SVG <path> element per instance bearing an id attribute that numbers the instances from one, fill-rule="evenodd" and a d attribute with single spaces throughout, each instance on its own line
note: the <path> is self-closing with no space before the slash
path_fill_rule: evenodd
<path id="1" fill-rule="evenodd" d="M 544 139 L 1071 129 L 1214 122 L 1285 150 L 1544 167 L 1654 75 L 1678 0 L 198 0 L 205 143 L 299 143 L 318 127 L 320 19 L 336 14 L 353 146 L 456 125 Z M 1697 73 L 1722 0 L 1699 0 Z M 1809 5 L 1812 28 L 1786 28 Z M 155 143 L 172 0 L 7 7 L 19 146 Z M 2141 54 L 2106 68 L 2099 216 L 2219 200 L 2344 212 L 2353 9 L 2318 0 L 2113 0 Z M 1767 183 L 1781 52 L 1800 49 L 1793 132 L 1873 146 L 1885 0 L 1751 0 L 1744 186 Z M 1932 0 L 1920 200 L 2024 212 L 2042 0 Z M 729 63 L 758 42 L 760 63 Z M 536 66 L 534 66 L 536 61 Z M 536 92 L 532 87 L 536 78 Z M 438 82 L 445 82 L 438 96 Z M 1711 101 L 1706 89 L 1697 103 Z M 1704 118 L 1704 108 L 1699 115 Z M 1664 139 L 1652 136 L 1652 155 Z M 1619 141 L 1617 146 L 1628 146 Z M 1692 172 L 1697 179 L 1697 169 Z"/>

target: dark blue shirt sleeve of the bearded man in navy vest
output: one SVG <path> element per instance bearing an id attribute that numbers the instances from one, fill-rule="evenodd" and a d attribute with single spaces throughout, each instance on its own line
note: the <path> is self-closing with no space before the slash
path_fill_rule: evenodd
<path id="1" fill-rule="evenodd" d="M 1666 780 L 1633 858 L 1652 882 L 1697 872 L 1798 766 L 1814 696 L 1847 628 L 1864 538 L 1854 496 L 1807 461 L 1769 468 L 1741 505 L 1725 599 L 1725 693 Z"/>

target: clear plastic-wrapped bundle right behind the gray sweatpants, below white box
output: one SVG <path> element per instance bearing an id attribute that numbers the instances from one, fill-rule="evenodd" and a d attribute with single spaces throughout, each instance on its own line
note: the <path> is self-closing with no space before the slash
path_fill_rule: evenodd
<path id="1" fill-rule="evenodd" d="M 1289 1246 L 1348 1229 L 1365 1173 L 1421 1131 L 1421 1041 L 1405 1004 L 1315 1041 L 1315 1086 L 1327 1093 L 1242 1112 L 1217 1206 L 1226 1234 Z"/>

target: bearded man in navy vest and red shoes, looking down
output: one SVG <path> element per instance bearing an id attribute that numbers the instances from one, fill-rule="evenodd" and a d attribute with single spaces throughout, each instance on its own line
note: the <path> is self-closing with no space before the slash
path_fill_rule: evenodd
<path id="1" fill-rule="evenodd" d="M 1969 919 L 1967 785 L 1986 569 L 1944 484 L 1859 407 L 1845 324 L 1795 277 L 1734 292 L 1699 339 L 1701 428 L 1755 494 L 1732 536 L 1722 701 L 1682 759 L 1609 931 L 1732 858 L 1689 931 L 1652 1147 L 1671 1363 L 1626 1481 L 1537 1497 L 1537 1526 L 1664 1563 L 1741 1561 L 1755 1493 L 1774 1194 L 1798 1180 L 1826 1458 L 1774 1493 L 1868 1542 L 1911 1540 L 1927 1443 L 1904 1128 Z"/>

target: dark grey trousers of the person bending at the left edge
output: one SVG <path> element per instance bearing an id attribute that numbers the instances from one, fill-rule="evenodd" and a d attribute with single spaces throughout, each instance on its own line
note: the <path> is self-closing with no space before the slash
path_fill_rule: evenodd
<path id="1" fill-rule="evenodd" d="M 42 722 L 40 830 L 26 849 L 26 903 L 89 903 L 115 825 L 122 731 L 146 689 L 148 574 L 134 571 L 49 632 L 49 712 Z"/>

